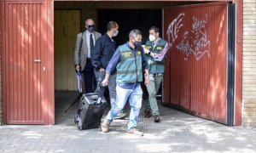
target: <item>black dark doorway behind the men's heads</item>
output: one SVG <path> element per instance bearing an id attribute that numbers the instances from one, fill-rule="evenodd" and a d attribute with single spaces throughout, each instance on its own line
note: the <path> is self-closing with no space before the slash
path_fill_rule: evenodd
<path id="1" fill-rule="evenodd" d="M 119 24 L 119 35 L 113 39 L 117 46 L 127 42 L 128 34 L 132 29 L 143 32 L 143 43 L 148 40 L 148 29 L 151 26 L 162 27 L 161 9 L 99 9 L 98 27 L 102 33 L 106 32 L 108 21 Z M 161 33 L 161 31 L 160 31 Z"/>

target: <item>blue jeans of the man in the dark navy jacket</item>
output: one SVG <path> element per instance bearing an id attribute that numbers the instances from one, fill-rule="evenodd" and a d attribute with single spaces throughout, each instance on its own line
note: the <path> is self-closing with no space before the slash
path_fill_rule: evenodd
<path id="1" fill-rule="evenodd" d="M 99 93 L 99 97 L 103 98 L 107 87 L 101 87 L 101 84 L 105 78 L 106 72 L 98 71 L 98 70 L 95 70 L 94 72 L 97 80 L 97 87 L 96 87 L 95 93 Z M 115 105 L 115 100 L 116 100 L 116 73 L 110 75 L 109 77 L 108 90 L 109 90 L 110 105 L 113 106 Z"/>

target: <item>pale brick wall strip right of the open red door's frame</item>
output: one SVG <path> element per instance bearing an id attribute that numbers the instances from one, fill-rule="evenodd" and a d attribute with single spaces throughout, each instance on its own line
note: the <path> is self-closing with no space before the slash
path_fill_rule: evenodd
<path id="1" fill-rule="evenodd" d="M 242 115 L 244 126 L 256 127 L 256 1 L 243 0 Z"/>

